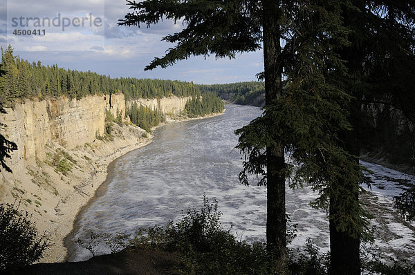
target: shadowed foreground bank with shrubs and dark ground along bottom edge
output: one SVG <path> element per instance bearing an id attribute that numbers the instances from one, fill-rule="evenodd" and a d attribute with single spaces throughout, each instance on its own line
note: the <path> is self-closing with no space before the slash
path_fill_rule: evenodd
<path id="1" fill-rule="evenodd" d="M 76 243 L 91 253 L 91 260 L 32 265 L 24 271 L 68 274 L 82 265 L 84 272 L 93 274 L 109 269 L 116 269 L 117 274 L 330 274 L 329 254 L 320 253 L 311 239 L 306 241 L 302 252 L 288 249 L 288 264 L 282 270 L 269 256 L 265 243 L 238 240 L 230 229 L 223 227 L 220 219 L 216 200 L 210 202 L 204 196 L 201 209 L 187 209 L 176 222 L 139 228 L 133 236 L 84 232 Z M 98 256 L 103 246 L 111 254 Z M 365 274 L 411 274 L 410 267 L 399 267 L 397 263 L 386 265 L 379 256 L 372 258 L 363 250 L 361 260 Z"/>

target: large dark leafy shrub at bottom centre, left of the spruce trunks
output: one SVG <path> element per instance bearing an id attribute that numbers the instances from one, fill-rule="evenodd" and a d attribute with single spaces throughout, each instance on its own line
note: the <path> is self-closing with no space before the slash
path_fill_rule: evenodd
<path id="1" fill-rule="evenodd" d="M 181 254 L 184 274 L 273 274 L 266 247 L 237 240 L 219 222 L 217 202 L 203 197 L 200 211 L 188 210 L 181 220 L 165 227 L 139 229 L 137 247 L 163 247 Z"/>

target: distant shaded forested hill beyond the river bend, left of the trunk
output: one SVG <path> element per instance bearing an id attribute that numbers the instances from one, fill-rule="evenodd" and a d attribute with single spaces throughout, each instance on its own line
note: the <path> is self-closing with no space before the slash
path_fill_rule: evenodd
<path id="1" fill-rule="evenodd" d="M 210 92 L 227 102 L 240 105 L 264 106 L 264 82 L 198 85 L 202 93 Z"/>

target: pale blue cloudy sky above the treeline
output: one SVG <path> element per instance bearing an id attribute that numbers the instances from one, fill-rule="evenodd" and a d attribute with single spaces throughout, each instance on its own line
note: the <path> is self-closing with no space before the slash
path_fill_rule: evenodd
<path id="1" fill-rule="evenodd" d="M 28 61 L 111 77 L 219 84 L 256 80 L 264 68 L 259 50 L 235 59 L 190 57 L 168 68 L 144 71 L 154 57 L 174 46 L 161 39 L 180 31 L 183 24 L 165 20 L 150 28 L 118 26 L 127 12 L 125 0 L 0 0 L 0 45 L 11 44 L 15 55 Z"/>

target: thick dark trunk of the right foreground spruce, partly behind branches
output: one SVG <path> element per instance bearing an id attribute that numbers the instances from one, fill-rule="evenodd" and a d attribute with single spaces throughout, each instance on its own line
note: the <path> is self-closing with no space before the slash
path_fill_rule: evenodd
<path id="1" fill-rule="evenodd" d="M 365 1 L 352 0 L 353 6 L 360 8 L 362 13 L 365 12 Z M 344 12 L 344 24 L 350 26 L 352 30 L 364 28 L 361 26 L 360 18 L 362 13 L 356 12 L 356 10 L 349 10 Z M 343 60 L 347 61 L 347 67 L 351 82 L 349 82 L 349 91 L 351 95 L 356 98 L 349 103 L 350 122 L 353 127 L 352 131 L 344 132 L 341 135 L 342 144 L 344 150 L 351 155 L 358 157 L 360 155 L 360 146 L 358 140 L 358 127 L 360 116 L 360 100 L 361 95 L 353 94 L 351 85 L 355 86 L 356 82 L 362 76 L 362 60 L 364 53 L 360 48 L 359 43 L 356 43 L 358 37 L 354 33 L 349 35 L 349 39 L 352 42 L 351 46 L 343 48 L 340 55 Z M 357 160 L 358 162 L 358 160 Z M 359 192 L 356 185 L 360 182 L 343 182 L 345 187 L 349 189 L 350 193 L 347 196 L 347 200 L 354 200 L 358 203 Z M 342 203 L 336 202 L 335 198 L 330 199 L 330 215 L 341 214 L 342 216 L 348 216 L 350 209 L 342 207 Z M 359 275 L 360 274 L 360 238 L 353 238 L 347 232 L 338 231 L 336 229 L 337 223 L 334 220 L 330 220 L 330 269 L 331 274 L 335 275 Z"/>

